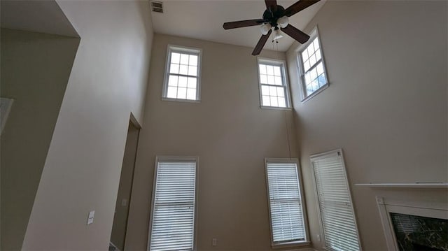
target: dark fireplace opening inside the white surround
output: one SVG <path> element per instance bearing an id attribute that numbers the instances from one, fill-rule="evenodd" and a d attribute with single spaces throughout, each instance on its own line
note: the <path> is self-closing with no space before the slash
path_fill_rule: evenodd
<path id="1" fill-rule="evenodd" d="M 448 220 L 391 213 L 400 251 L 448 251 Z"/>

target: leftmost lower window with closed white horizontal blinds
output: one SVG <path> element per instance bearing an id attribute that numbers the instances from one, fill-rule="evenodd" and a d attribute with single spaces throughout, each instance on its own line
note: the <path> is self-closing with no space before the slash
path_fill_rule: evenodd
<path id="1" fill-rule="evenodd" d="M 148 250 L 193 250 L 197 159 L 156 163 Z"/>

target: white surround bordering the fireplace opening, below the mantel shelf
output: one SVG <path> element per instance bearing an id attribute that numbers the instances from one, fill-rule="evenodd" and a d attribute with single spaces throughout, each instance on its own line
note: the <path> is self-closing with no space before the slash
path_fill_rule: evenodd
<path id="1" fill-rule="evenodd" d="M 398 251 L 397 238 L 393 231 L 393 223 L 390 213 L 401 213 L 422 217 L 433 217 L 448 220 L 448 204 L 435 201 L 398 201 L 377 196 L 377 206 L 381 224 L 383 225 L 384 237 L 386 238 L 387 250 Z"/>

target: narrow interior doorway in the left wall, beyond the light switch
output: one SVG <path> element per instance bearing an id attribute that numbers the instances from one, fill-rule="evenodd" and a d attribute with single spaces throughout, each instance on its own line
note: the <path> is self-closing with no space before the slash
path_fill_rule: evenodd
<path id="1" fill-rule="evenodd" d="M 115 215 L 109 251 L 123 251 L 125 249 L 127 218 L 129 215 L 132 181 L 134 180 L 134 166 L 139 143 L 139 132 L 131 121 L 127 129 L 127 139 L 123 166 L 121 168 L 120 185 L 118 187 Z"/>

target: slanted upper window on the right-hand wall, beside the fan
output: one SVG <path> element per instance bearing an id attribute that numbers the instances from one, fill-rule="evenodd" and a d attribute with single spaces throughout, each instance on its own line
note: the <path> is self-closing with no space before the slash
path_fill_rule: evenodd
<path id="1" fill-rule="evenodd" d="M 311 32 L 309 41 L 300 47 L 297 58 L 300 64 L 300 83 L 304 100 L 328 87 L 317 28 Z"/>

